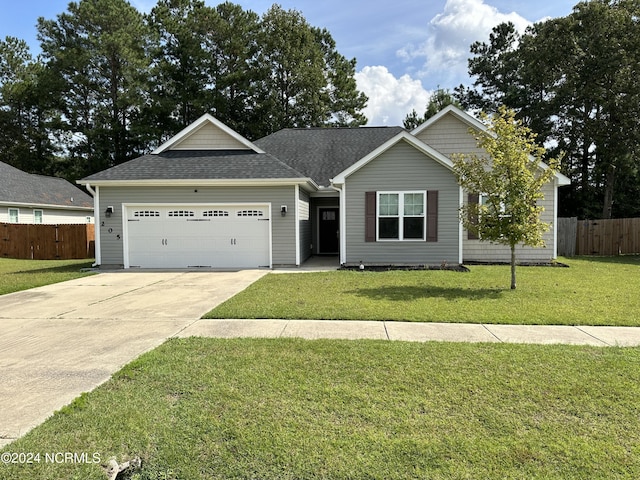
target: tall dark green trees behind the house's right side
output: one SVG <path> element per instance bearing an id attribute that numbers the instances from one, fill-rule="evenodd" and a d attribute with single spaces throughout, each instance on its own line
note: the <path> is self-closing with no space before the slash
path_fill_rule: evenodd
<path id="1" fill-rule="evenodd" d="M 563 18 L 494 28 L 471 46 L 466 108 L 505 104 L 553 151 L 566 152 L 561 215 L 640 215 L 640 3 L 593 0 Z"/>

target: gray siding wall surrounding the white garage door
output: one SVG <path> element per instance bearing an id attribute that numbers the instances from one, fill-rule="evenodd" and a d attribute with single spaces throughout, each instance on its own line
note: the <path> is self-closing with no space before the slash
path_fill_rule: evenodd
<path id="1" fill-rule="evenodd" d="M 196 192 L 197 190 L 197 192 Z M 273 266 L 295 265 L 295 215 L 280 215 L 280 206 L 289 211 L 297 201 L 295 187 L 100 187 L 101 223 L 96 226 L 100 235 L 103 266 L 122 266 L 123 212 L 122 204 L 177 204 L 177 203 L 271 203 L 271 248 Z M 110 218 L 103 214 L 113 206 Z M 109 232 L 111 229 L 111 232 Z"/>

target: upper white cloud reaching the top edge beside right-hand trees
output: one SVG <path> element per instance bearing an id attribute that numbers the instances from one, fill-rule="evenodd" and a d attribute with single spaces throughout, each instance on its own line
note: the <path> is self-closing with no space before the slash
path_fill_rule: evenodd
<path id="1" fill-rule="evenodd" d="M 418 76 L 435 79 L 443 88 L 467 83 L 469 47 L 475 41 L 488 41 L 491 29 L 512 22 L 524 32 L 531 24 L 515 12 L 501 13 L 484 0 L 447 0 L 444 11 L 431 19 L 427 38 L 419 45 L 406 45 L 397 55 L 405 61 L 422 60 Z"/>

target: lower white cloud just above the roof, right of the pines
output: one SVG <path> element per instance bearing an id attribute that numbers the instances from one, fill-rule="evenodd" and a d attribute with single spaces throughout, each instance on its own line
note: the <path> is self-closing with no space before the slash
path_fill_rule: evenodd
<path id="1" fill-rule="evenodd" d="M 430 92 L 420 80 L 408 74 L 396 78 L 387 67 L 364 67 L 355 75 L 358 90 L 369 97 L 364 114 L 368 125 L 402 125 L 404 117 L 415 109 L 419 114 L 429 102 Z"/>

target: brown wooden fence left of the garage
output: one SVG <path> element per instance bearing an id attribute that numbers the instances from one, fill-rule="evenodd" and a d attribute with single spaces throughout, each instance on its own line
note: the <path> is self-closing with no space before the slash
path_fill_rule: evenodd
<path id="1" fill-rule="evenodd" d="M 95 225 L 0 223 L 0 257 L 70 260 L 95 256 Z"/>

